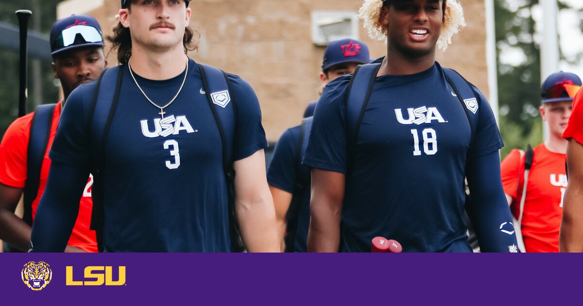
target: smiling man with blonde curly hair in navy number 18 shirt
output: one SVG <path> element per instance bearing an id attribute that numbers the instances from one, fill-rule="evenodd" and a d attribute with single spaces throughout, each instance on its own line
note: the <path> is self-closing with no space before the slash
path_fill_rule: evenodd
<path id="1" fill-rule="evenodd" d="M 466 87 L 458 90 L 447 77 L 454 72 L 436 62 L 436 48 L 445 50 L 465 25 L 461 5 L 366 0 L 359 16 L 372 38 L 387 41 L 387 55 L 361 66 L 375 69 L 366 94 L 345 76 L 318 102 L 303 160 L 312 168 L 308 251 L 367 252 L 383 236 L 406 252 L 471 252 L 467 177 L 480 248 L 515 252 L 493 112 L 476 87 L 456 75 Z M 354 92 L 362 107 L 348 106 Z M 461 94 L 468 92 L 473 99 Z"/>

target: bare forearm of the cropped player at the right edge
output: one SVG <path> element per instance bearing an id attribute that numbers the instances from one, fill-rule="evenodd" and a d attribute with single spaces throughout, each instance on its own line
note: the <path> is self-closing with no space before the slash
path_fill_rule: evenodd
<path id="1" fill-rule="evenodd" d="M 563 200 L 563 219 L 559 234 L 560 252 L 583 252 L 583 207 L 577 199 L 581 199 L 581 189 L 567 187 Z"/>

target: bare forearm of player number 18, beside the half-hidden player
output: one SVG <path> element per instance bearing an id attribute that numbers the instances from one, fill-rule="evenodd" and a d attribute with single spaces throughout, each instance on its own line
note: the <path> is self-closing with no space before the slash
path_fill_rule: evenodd
<path id="1" fill-rule="evenodd" d="M 311 205 L 308 252 L 338 252 L 340 245 L 340 210 Z"/>

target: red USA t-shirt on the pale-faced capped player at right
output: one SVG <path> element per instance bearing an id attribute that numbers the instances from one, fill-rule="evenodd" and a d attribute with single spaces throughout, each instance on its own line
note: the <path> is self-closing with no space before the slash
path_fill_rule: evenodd
<path id="1" fill-rule="evenodd" d="M 533 149 L 531 172 L 522 213 L 522 238 L 526 252 L 559 252 L 559 227 L 563 194 L 567 187 L 566 154 L 553 153 L 542 143 Z M 504 193 L 512 196 L 512 214 L 518 219 L 524 187 L 524 156 L 514 149 L 502 161 Z"/>

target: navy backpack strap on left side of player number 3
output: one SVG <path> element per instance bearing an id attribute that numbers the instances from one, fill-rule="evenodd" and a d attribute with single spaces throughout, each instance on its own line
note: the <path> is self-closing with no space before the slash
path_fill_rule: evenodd
<path id="1" fill-rule="evenodd" d="M 91 166 L 91 173 L 93 174 L 93 186 L 91 190 L 93 210 L 91 213 L 90 228 L 96 231 L 97 248 L 100 252 L 104 251 L 103 226 L 105 214 L 103 210 L 102 175 L 105 159 L 105 143 L 115 113 L 115 107 L 120 97 L 124 69 L 125 66 L 114 66 L 107 68 L 99 76 L 90 109 L 89 124 L 87 125 L 91 152 L 93 154 Z"/>

